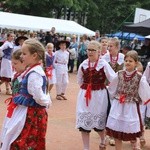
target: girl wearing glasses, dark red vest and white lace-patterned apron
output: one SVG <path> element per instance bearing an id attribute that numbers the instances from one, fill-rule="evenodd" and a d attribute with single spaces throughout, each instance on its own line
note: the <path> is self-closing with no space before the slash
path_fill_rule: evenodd
<path id="1" fill-rule="evenodd" d="M 78 70 L 80 91 L 76 108 L 76 127 L 81 131 L 84 150 L 89 150 L 89 136 L 94 129 L 101 137 L 100 150 L 105 150 L 105 124 L 107 118 L 108 95 L 105 79 L 109 81 L 115 72 L 103 59 L 99 59 L 100 43 L 91 41 L 88 45 L 88 59 Z"/>

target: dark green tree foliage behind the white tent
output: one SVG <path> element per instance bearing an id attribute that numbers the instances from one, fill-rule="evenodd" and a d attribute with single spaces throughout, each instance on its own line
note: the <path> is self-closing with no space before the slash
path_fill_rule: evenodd
<path id="1" fill-rule="evenodd" d="M 149 0 L 0 0 L 1 2 L 1 10 L 72 19 L 92 30 L 99 29 L 101 33 L 121 30 L 125 22 L 133 22 L 137 7 L 150 10 Z"/>

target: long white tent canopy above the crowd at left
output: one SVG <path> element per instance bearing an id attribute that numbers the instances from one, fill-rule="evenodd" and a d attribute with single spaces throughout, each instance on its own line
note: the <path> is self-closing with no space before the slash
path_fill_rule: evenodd
<path id="1" fill-rule="evenodd" d="M 52 27 L 56 28 L 58 33 L 94 35 L 95 32 L 79 25 L 74 21 L 53 19 L 45 17 L 36 17 L 29 15 L 20 15 L 14 13 L 0 12 L 0 27 L 17 30 L 35 30 L 40 29 L 50 31 Z"/>

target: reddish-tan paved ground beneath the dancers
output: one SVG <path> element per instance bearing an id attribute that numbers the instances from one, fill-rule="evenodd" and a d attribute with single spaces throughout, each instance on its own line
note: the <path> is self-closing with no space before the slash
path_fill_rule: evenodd
<path id="1" fill-rule="evenodd" d="M 80 132 L 75 129 L 76 98 L 79 87 L 76 83 L 76 74 L 70 74 L 70 83 L 67 89 L 67 101 L 55 99 L 55 87 L 52 89 L 52 106 L 48 110 L 47 150 L 83 150 Z M 6 112 L 4 100 L 8 97 L 4 87 L 0 98 L 0 129 Z M 150 131 L 146 131 L 146 146 L 144 150 L 150 150 Z M 98 150 L 99 138 L 93 131 L 90 136 L 90 149 Z M 107 150 L 115 150 L 107 146 Z M 123 150 L 131 150 L 129 142 L 123 143 Z"/>

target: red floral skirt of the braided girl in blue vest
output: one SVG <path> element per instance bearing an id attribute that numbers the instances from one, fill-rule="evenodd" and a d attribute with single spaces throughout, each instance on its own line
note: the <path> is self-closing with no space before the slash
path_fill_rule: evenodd
<path id="1" fill-rule="evenodd" d="M 10 150 L 45 150 L 47 118 L 45 108 L 28 107 L 24 128 Z"/>

